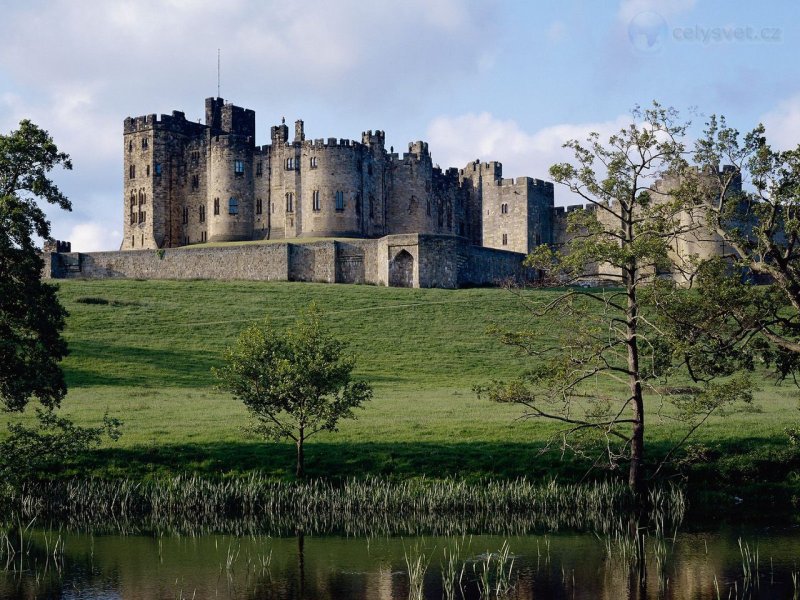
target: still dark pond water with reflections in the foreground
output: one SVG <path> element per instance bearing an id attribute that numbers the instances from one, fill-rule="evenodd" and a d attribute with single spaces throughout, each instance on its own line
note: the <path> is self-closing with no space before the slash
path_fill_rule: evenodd
<path id="1" fill-rule="evenodd" d="M 23 536 L 24 550 L 0 565 L 0 598 L 800 598 L 793 528 L 648 539 L 639 567 L 624 543 L 587 533 Z"/>

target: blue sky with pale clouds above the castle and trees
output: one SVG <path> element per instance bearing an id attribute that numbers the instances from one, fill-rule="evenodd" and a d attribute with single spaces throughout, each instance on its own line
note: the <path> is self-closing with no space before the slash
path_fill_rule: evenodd
<path id="1" fill-rule="evenodd" d="M 49 208 L 74 251 L 120 245 L 125 117 L 204 115 L 220 95 L 309 138 L 381 129 L 435 164 L 548 178 L 565 141 L 673 106 L 800 143 L 796 0 L 0 0 L 0 132 L 21 119 L 73 159 Z M 556 204 L 572 203 L 556 188 Z"/>

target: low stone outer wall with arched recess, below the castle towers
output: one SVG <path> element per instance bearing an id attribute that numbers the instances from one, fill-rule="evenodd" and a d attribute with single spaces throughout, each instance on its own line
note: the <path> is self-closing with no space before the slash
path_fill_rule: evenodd
<path id="1" fill-rule="evenodd" d="M 45 255 L 47 278 L 222 279 L 457 288 L 530 274 L 523 254 L 448 235 Z"/>

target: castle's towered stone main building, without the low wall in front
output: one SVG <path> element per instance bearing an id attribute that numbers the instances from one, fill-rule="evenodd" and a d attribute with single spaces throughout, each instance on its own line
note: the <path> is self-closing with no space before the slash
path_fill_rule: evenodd
<path id="1" fill-rule="evenodd" d="M 310 140 L 302 121 L 270 138 L 256 146 L 255 113 L 222 98 L 206 99 L 205 124 L 125 119 L 121 249 L 413 233 L 527 253 L 552 241 L 553 184 L 503 179 L 500 163 L 443 171 L 425 142 L 400 155 L 383 131 Z"/>

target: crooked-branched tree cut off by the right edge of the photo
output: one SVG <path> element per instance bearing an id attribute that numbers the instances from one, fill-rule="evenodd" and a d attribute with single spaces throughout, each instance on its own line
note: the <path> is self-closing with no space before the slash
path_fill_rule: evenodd
<path id="1" fill-rule="evenodd" d="M 731 349 L 761 352 L 781 375 L 794 374 L 800 370 L 800 146 L 775 151 L 762 125 L 741 135 L 712 115 L 694 161 L 684 201 L 729 252 L 720 259 L 728 268 L 708 260 L 698 265 L 705 274 L 701 297 L 724 294 L 727 313 L 705 314 L 693 331 L 709 335 L 724 324 Z M 754 291 L 742 273 L 767 285 Z"/>

